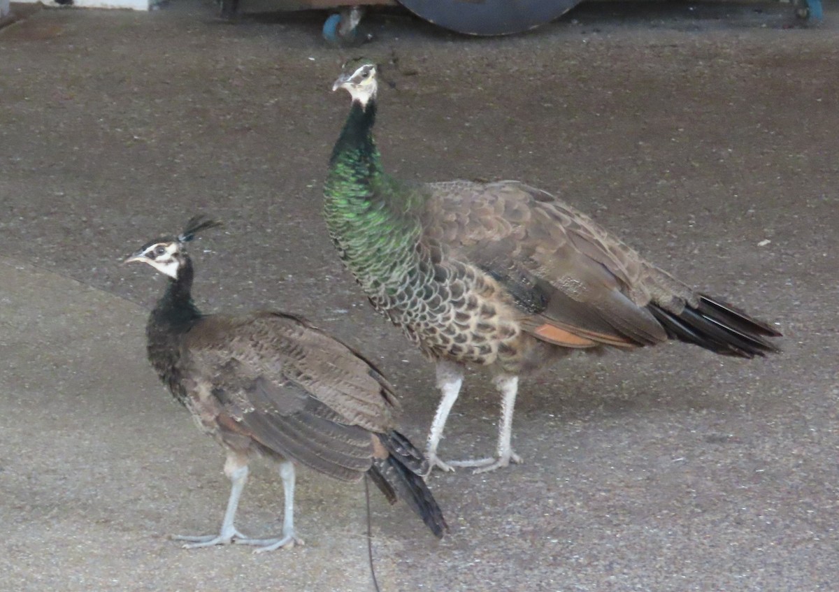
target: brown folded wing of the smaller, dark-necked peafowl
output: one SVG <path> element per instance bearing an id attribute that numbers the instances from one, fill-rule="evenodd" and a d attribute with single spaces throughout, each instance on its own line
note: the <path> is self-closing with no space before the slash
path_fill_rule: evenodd
<path id="1" fill-rule="evenodd" d="M 357 479 L 393 428 L 381 374 L 346 345 L 288 315 L 208 316 L 185 338 L 195 390 L 216 422 L 338 479 Z"/>

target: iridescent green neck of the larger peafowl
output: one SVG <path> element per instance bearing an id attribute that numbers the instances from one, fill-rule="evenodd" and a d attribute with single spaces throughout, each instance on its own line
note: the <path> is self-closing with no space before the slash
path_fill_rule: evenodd
<path id="1" fill-rule="evenodd" d="M 324 187 L 326 226 L 341 259 L 365 291 L 389 291 L 418 263 L 420 190 L 384 174 L 373 141 L 376 103 L 353 101 Z"/>

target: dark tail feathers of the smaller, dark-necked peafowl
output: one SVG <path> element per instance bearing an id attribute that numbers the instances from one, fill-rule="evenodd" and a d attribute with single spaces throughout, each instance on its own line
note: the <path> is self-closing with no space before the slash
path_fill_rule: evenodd
<path id="1" fill-rule="evenodd" d="M 373 459 L 373 466 L 367 473 L 370 479 L 390 503 L 404 500 L 435 537 L 441 538 L 449 530 L 446 518 L 420 476 L 427 472 L 428 462 L 399 432 L 379 434 L 379 439 L 390 454 L 386 459 Z"/>

